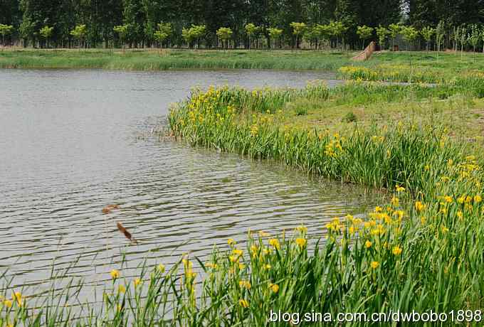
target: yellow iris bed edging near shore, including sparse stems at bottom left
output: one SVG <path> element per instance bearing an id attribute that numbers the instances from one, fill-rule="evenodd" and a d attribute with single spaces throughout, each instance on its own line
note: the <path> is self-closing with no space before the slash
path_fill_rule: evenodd
<path id="1" fill-rule="evenodd" d="M 454 323 L 480 326 L 482 151 L 473 153 L 443 127 L 426 124 L 355 126 L 332 134 L 286 129 L 280 121 L 288 105 L 308 99 L 404 105 L 460 90 L 362 82 L 331 90 L 320 82 L 302 90 L 194 90 L 169 114 L 177 138 L 385 189 L 390 200 L 365 217 L 335 218 L 316 237 L 309 237 L 305 226 L 282 235 L 249 231 L 246 244 L 227 240 L 226 250 L 214 248 L 204 262 L 185 256 L 167 271 L 163 266 L 143 269 L 136 279 L 113 269 L 97 307 L 65 293 L 36 305 L 6 286 L 0 326 L 287 326 L 271 322 L 271 311 L 293 313 L 293 325 L 342 326 L 335 320 L 309 323 L 304 313 L 335 319 L 342 312 L 370 316 L 397 310 L 453 313 Z M 73 309 L 76 303 L 82 310 Z"/>

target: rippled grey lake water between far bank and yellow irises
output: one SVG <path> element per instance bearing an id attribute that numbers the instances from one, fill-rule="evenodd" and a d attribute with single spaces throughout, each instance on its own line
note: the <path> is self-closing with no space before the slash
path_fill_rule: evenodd
<path id="1" fill-rule="evenodd" d="M 315 72 L 0 70 L 0 270 L 11 286 L 46 287 L 54 273 L 88 284 L 127 262 L 169 266 L 204 257 L 251 230 L 364 213 L 362 190 L 283 165 L 159 139 L 171 102 L 191 87 L 302 87 Z M 334 84 L 335 81 L 329 81 Z M 108 204 L 120 210 L 102 215 Z M 117 231 L 122 222 L 139 245 Z M 3 282 L 0 282 L 0 288 Z"/>

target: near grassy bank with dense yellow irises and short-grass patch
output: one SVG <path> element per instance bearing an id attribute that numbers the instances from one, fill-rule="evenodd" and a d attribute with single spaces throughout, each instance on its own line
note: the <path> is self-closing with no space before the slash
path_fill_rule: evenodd
<path id="1" fill-rule="evenodd" d="M 394 193 L 366 219 L 347 216 L 327 224 L 326 240 L 314 254 L 305 248 L 304 228 L 289 241 L 286 235 L 250 247 L 247 274 L 214 283 L 230 287 L 247 279 L 256 285 L 244 296 L 246 315 L 236 321 L 267 326 L 270 309 L 333 317 L 390 310 L 474 314 L 484 287 L 478 90 L 459 83 L 364 82 L 333 90 L 317 84 L 286 91 L 222 88 L 196 92 L 174 109 L 173 132 L 190 144 L 280 159 Z M 264 249 L 273 254 L 261 254 Z M 265 260 L 276 267 L 269 274 L 258 269 Z M 260 294 L 270 283 L 283 291 L 268 300 Z"/>

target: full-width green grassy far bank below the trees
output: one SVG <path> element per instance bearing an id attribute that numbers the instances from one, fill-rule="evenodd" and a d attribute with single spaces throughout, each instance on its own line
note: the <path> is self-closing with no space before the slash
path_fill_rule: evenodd
<path id="1" fill-rule="evenodd" d="M 382 52 L 367 62 L 356 53 L 308 50 L 0 50 L 0 68 L 100 68 L 111 70 L 281 69 L 337 72 L 344 66 L 369 68 L 369 80 L 438 82 L 458 73 L 483 70 L 483 54 Z M 351 72 L 342 71 L 343 77 Z M 358 77 L 358 76 L 355 76 Z"/>

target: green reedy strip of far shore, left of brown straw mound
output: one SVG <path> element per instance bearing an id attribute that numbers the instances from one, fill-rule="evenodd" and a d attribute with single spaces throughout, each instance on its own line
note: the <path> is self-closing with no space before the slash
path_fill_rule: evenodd
<path id="1" fill-rule="evenodd" d="M 331 70 L 352 53 L 259 50 L 4 50 L 0 68 Z"/>

